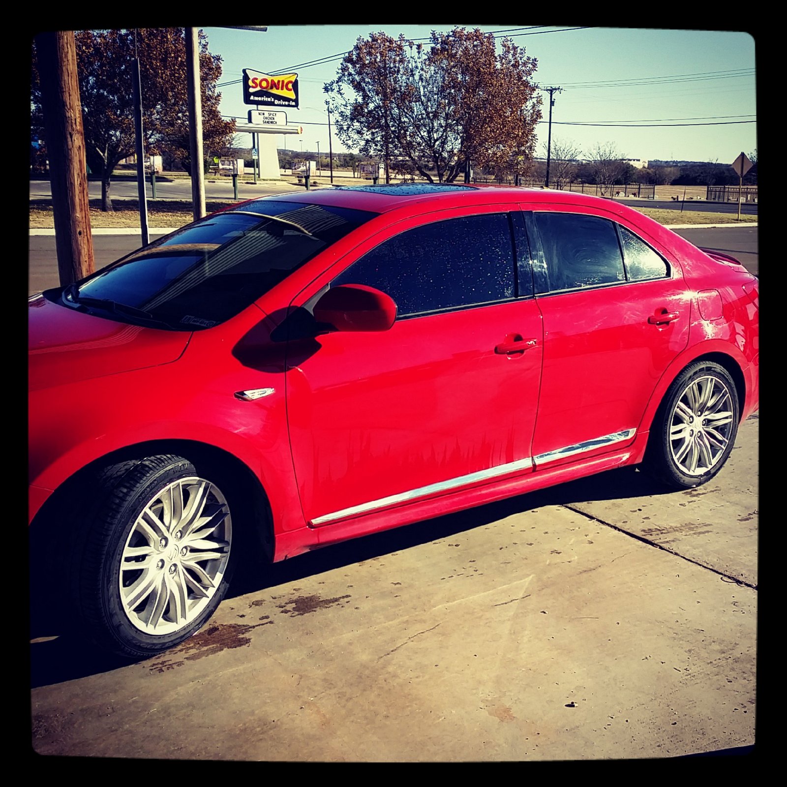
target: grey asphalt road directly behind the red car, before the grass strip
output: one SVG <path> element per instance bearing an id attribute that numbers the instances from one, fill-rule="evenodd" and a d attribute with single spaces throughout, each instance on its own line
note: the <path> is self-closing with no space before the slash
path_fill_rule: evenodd
<path id="1" fill-rule="evenodd" d="M 695 246 L 719 249 L 732 254 L 745 264 L 749 271 L 758 274 L 758 246 L 756 227 L 719 227 L 718 229 L 678 230 Z M 93 247 L 96 269 L 119 259 L 139 247 L 139 235 L 94 235 Z M 28 294 L 57 286 L 57 257 L 54 237 L 31 235 L 29 238 Z"/>

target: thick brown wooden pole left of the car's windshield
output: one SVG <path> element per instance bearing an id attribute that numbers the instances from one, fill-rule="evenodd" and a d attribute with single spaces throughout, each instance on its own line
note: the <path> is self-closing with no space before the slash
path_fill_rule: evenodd
<path id="1" fill-rule="evenodd" d="M 62 286 L 94 271 L 87 158 L 76 75 L 72 31 L 41 33 L 35 38 L 39 57 L 41 102 L 54 209 L 57 272 Z"/>

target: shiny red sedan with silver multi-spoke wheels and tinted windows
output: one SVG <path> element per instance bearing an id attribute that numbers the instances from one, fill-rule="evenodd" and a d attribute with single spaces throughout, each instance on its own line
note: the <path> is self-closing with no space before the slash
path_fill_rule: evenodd
<path id="1" fill-rule="evenodd" d="M 759 397 L 757 279 L 550 190 L 235 205 L 30 300 L 31 538 L 126 656 L 209 619 L 238 555 L 642 464 L 725 463 Z M 38 549 L 38 548 L 36 548 Z"/>

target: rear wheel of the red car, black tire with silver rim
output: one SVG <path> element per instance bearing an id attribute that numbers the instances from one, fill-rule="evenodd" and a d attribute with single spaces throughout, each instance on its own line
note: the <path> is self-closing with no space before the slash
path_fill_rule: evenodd
<path id="1" fill-rule="evenodd" d="M 673 489 L 707 483 L 729 458 L 740 419 L 730 373 L 712 361 L 690 364 L 653 419 L 645 468 Z"/>

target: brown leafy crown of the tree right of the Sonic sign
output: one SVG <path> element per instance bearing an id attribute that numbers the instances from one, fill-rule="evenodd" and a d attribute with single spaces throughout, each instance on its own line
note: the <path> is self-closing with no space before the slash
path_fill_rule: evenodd
<path id="1" fill-rule="evenodd" d="M 478 28 L 433 32 L 428 45 L 372 33 L 325 91 L 339 139 L 366 156 L 404 157 L 429 181 L 452 182 L 468 160 L 521 175 L 541 119 L 536 66 Z"/>

